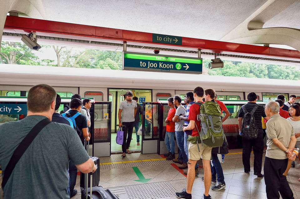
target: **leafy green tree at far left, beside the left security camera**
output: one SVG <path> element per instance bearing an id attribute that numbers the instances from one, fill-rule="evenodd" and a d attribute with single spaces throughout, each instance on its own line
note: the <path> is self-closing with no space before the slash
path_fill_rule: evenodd
<path id="1" fill-rule="evenodd" d="M 39 58 L 24 43 L 1 42 L 0 61 L 2 64 L 40 65 Z"/>

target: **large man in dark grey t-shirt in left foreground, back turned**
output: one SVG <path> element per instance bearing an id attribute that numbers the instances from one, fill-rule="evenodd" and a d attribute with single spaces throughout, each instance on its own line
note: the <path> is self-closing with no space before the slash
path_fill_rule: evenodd
<path id="1" fill-rule="evenodd" d="M 56 92 L 46 85 L 32 87 L 27 97 L 27 117 L 0 126 L 0 165 L 3 177 L 12 154 L 29 131 L 44 119 L 51 120 Z M 13 140 L 8 142 L 8 138 Z M 83 173 L 96 167 L 76 131 L 69 125 L 50 122 L 33 139 L 4 186 L 4 199 L 70 198 L 68 165 L 72 160 Z"/>

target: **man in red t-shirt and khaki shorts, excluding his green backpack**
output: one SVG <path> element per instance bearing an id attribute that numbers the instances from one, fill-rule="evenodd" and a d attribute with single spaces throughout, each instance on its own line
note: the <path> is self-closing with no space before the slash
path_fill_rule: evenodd
<path id="1" fill-rule="evenodd" d="M 193 91 L 194 99 L 196 102 L 202 102 L 204 95 L 204 90 L 201 87 L 196 87 Z M 198 140 L 198 143 L 201 143 L 199 133 L 195 130 L 195 125 L 197 128 L 201 129 L 201 122 L 197 120 L 197 115 L 200 114 L 200 106 L 196 103 L 192 104 L 189 109 L 188 120 L 189 124 L 186 127 L 183 127 L 183 131 L 192 130 L 192 137 L 196 137 L 195 140 Z M 194 140 L 194 141 L 195 141 Z M 191 199 L 192 198 L 192 186 L 195 180 L 195 164 L 202 157 L 203 168 L 204 168 L 204 187 L 205 192 L 203 195 L 204 199 L 211 199 L 211 196 L 208 194 L 209 187 L 211 184 L 212 173 L 210 170 L 210 157 L 211 157 L 212 148 L 202 146 L 201 144 L 192 144 L 192 140 L 188 145 L 188 170 L 187 170 L 187 189 L 183 192 L 177 192 L 176 197 Z"/>

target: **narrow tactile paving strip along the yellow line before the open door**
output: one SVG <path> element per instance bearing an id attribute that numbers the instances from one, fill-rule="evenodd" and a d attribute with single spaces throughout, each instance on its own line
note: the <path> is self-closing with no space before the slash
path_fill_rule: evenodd
<path id="1" fill-rule="evenodd" d="M 144 162 L 130 162 L 130 163 L 118 163 L 118 164 L 103 164 L 100 165 L 100 169 L 112 169 L 112 168 L 127 168 L 127 167 L 140 167 L 158 164 L 170 164 L 172 160 L 155 160 L 155 161 L 144 161 Z"/>

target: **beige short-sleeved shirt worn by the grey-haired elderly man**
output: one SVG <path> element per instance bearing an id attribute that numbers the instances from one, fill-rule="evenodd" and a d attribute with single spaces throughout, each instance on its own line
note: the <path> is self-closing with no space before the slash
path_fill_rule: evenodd
<path id="1" fill-rule="evenodd" d="M 272 139 L 278 139 L 286 148 L 290 143 L 291 137 L 295 136 L 292 124 L 279 114 L 272 115 L 267 125 L 267 151 L 266 157 L 273 159 L 287 159 L 285 151 L 277 147 Z"/>

